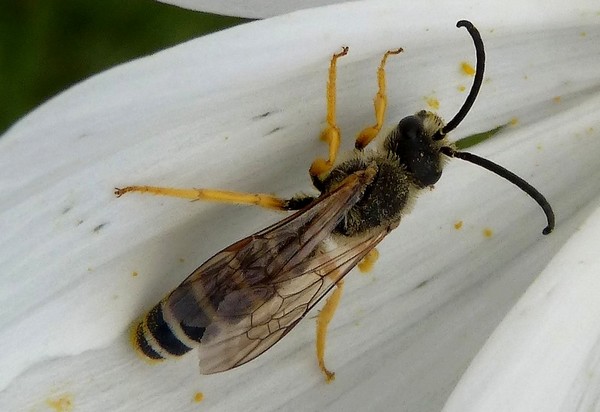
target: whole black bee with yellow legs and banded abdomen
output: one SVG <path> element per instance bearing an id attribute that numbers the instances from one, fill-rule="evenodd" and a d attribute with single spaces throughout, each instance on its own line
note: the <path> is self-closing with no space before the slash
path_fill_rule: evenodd
<path id="1" fill-rule="evenodd" d="M 328 381 L 333 379 L 324 362 L 325 336 L 343 278 L 361 262 L 374 259 L 375 246 L 398 226 L 410 200 L 440 179 L 444 156 L 474 163 L 515 184 L 544 211 L 547 226 L 542 233 L 553 230 L 554 213 L 540 192 L 502 166 L 456 150 L 447 139 L 472 107 L 485 66 L 477 29 L 465 20 L 457 27 L 466 28 L 473 39 L 477 67 L 469 95 L 454 118 L 444 124 L 437 114 L 420 111 L 402 119 L 379 150 L 366 148 L 384 122 L 386 61 L 402 51 L 389 50 L 377 72 L 376 123 L 359 133 L 352 157 L 341 163 L 336 163 L 341 138 L 335 118 L 336 72 L 337 61 L 348 48 L 332 56 L 327 126 L 321 135 L 328 143 L 329 156 L 316 159 L 309 169 L 318 197 L 282 199 L 268 194 L 153 186 L 115 189 L 118 197 L 141 192 L 296 211 L 215 254 L 154 306 L 133 328 L 133 343 L 139 352 L 160 360 L 198 347 L 202 373 L 235 368 L 273 346 L 333 290 L 317 321 L 319 366 Z"/>

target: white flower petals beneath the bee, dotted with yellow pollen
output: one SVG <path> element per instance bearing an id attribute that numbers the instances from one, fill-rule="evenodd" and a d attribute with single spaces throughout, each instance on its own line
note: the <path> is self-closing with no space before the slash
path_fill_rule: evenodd
<path id="1" fill-rule="evenodd" d="M 586 217 L 597 215 L 600 194 L 600 8 L 521 3 L 372 0 L 282 15 L 116 67 L 15 124 L 0 138 L 0 410 L 61 399 L 78 411 L 440 410 L 550 261 L 447 407 L 593 409 L 600 288 L 589 250 L 600 224 Z M 460 19 L 482 33 L 487 80 L 453 137 L 515 120 L 470 150 L 544 193 L 555 233 L 541 235 L 543 214 L 517 188 L 452 160 L 379 247 L 372 274 L 347 277 L 328 342 L 333 384 L 316 366 L 310 319 L 222 374 L 199 375 L 193 354 L 154 366 L 138 359 L 131 322 L 214 252 L 281 215 L 117 200 L 113 187 L 310 190 L 308 166 L 326 150 L 317 136 L 330 55 L 350 47 L 338 77 L 348 149 L 373 122 L 387 49 L 405 50 L 387 66 L 390 123 L 428 98 L 446 119 L 455 114 L 471 83 L 460 65 L 475 59 Z"/>

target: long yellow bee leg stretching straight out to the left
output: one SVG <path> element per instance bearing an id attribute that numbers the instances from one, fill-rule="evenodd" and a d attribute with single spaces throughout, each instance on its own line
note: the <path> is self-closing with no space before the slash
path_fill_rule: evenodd
<path id="1" fill-rule="evenodd" d="M 275 210 L 298 210 L 314 200 L 314 197 L 306 195 L 298 195 L 291 199 L 282 199 L 264 193 L 241 193 L 214 189 L 177 189 L 156 186 L 127 186 L 121 189 L 115 188 L 115 195 L 117 197 L 121 197 L 129 192 L 172 196 L 190 200 L 256 205 Z"/>

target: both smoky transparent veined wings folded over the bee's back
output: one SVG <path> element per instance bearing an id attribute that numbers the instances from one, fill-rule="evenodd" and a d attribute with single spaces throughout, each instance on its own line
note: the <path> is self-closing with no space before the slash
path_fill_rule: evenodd
<path id="1" fill-rule="evenodd" d="M 242 365 L 293 328 L 388 230 L 319 245 L 360 199 L 366 172 L 281 222 L 217 253 L 166 299 L 181 331 L 200 342 L 200 369 L 209 374 Z"/>

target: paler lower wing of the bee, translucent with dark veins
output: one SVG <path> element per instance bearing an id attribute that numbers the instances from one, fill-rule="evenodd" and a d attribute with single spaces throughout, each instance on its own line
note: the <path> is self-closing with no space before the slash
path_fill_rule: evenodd
<path id="1" fill-rule="evenodd" d="M 277 281 L 263 285 L 261 292 L 240 290 L 234 306 L 239 303 L 238 298 L 244 301 L 251 296 L 256 307 L 237 318 L 224 316 L 213 320 L 200 345 L 201 372 L 228 370 L 265 352 L 292 330 L 387 233 L 384 229 L 366 239 L 352 239 L 330 252 L 312 256 L 282 272 Z"/>

